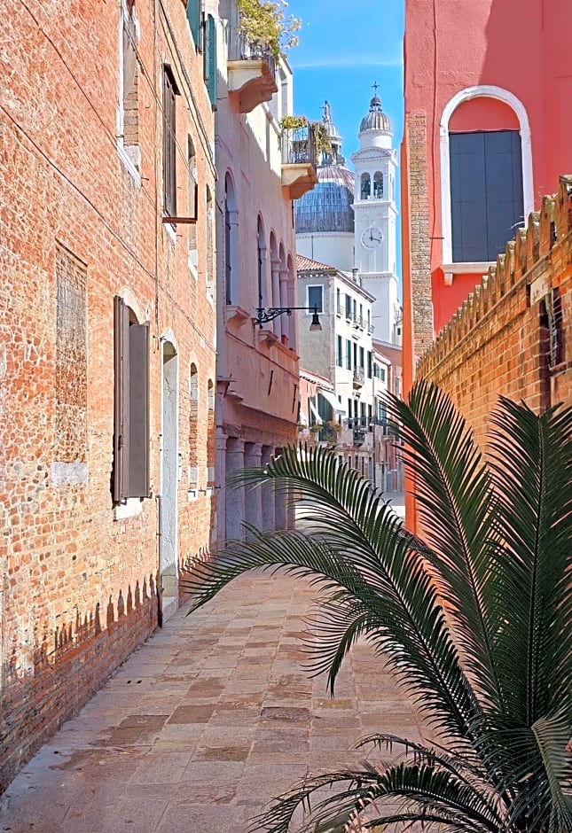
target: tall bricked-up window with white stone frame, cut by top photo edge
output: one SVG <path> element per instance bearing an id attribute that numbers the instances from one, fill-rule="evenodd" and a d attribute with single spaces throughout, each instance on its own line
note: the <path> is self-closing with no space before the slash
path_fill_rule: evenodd
<path id="1" fill-rule="evenodd" d="M 137 66 L 137 21 L 135 3 L 124 0 L 121 42 L 121 138 L 129 160 L 139 170 L 139 111 Z"/>

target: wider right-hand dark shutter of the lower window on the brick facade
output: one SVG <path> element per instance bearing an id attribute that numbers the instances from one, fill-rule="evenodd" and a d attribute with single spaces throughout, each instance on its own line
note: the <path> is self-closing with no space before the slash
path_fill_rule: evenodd
<path id="1" fill-rule="evenodd" d="M 149 323 L 129 327 L 129 497 L 148 497 Z"/>

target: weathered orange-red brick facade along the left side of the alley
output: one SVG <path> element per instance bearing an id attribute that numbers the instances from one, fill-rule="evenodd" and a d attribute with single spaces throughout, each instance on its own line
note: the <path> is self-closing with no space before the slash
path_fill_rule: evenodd
<path id="1" fill-rule="evenodd" d="M 0 40 L 2 789 L 176 606 L 177 562 L 208 547 L 215 167 L 182 0 L 8 0 Z M 163 222 L 165 66 L 176 214 L 198 183 L 196 226 Z M 149 496 L 114 505 L 116 296 L 150 331 Z"/>

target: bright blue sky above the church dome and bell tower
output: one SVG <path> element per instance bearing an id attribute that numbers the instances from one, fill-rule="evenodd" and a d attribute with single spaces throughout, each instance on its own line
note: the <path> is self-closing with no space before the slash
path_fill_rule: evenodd
<path id="1" fill-rule="evenodd" d="M 357 150 L 359 122 L 369 110 L 372 84 L 378 82 L 398 147 L 404 121 L 404 0 L 289 0 L 286 13 L 302 18 L 299 45 L 288 55 L 294 113 L 320 119 L 327 99 L 349 162 Z"/>

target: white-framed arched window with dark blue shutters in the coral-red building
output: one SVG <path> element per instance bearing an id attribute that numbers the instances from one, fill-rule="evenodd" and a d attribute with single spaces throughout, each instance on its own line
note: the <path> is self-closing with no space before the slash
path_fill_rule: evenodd
<path id="1" fill-rule="evenodd" d="M 443 265 L 494 261 L 533 207 L 526 110 L 508 90 L 471 87 L 440 130 Z"/>

